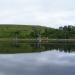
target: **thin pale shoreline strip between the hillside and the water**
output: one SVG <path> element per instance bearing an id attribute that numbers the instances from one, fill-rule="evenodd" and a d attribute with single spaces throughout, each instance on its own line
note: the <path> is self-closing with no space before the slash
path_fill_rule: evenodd
<path id="1" fill-rule="evenodd" d="M 20 38 L 0 38 L 0 41 L 24 41 L 24 42 L 75 42 L 75 39 L 20 39 Z"/>

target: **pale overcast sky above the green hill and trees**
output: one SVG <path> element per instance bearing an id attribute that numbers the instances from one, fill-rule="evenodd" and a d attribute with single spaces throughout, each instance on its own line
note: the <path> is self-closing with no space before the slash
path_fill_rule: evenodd
<path id="1" fill-rule="evenodd" d="M 0 24 L 75 25 L 75 0 L 0 0 Z"/>

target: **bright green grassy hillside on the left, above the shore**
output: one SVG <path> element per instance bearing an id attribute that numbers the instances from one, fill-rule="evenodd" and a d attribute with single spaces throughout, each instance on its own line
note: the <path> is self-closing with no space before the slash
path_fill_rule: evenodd
<path id="1" fill-rule="evenodd" d="M 0 38 L 14 38 L 16 33 L 19 38 L 31 38 L 31 32 L 40 31 L 43 33 L 46 28 L 33 25 L 2 24 L 0 25 Z"/>

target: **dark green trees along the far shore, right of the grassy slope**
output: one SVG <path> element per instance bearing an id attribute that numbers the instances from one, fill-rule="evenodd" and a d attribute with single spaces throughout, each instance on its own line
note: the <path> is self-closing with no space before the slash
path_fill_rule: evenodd
<path id="1" fill-rule="evenodd" d="M 44 32 L 33 31 L 30 33 L 32 38 L 39 37 L 48 37 L 49 39 L 75 39 L 75 26 L 68 25 L 64 27 L 59 27 L 58 29 L 54 28 L 45 28 Z"/>

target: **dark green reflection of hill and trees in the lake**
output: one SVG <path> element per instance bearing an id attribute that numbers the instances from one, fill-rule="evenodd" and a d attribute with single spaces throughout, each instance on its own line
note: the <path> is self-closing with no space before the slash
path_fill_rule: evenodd
<path id="1" fill-rule="evenodd" d="M 25 43 L 25 42 L 0 42 L 0 53 L 30 53 L 47 50 L 59 50 L 64 52 L 75 51 L 75 43 Z"/>

